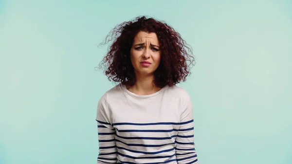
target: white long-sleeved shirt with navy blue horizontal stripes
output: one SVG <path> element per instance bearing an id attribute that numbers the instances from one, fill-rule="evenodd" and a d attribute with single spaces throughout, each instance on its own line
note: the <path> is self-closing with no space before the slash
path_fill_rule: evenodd
<path id="1" fill-rule="evenodd" d="M 193 106 L 176 85 L 138 95 L 119 84 L 97 106 L 97 164 L 199 164 Z"/>

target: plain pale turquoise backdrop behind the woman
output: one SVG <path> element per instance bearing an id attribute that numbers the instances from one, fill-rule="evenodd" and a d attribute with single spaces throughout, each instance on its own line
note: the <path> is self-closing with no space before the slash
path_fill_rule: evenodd
<path id="1" fill-rule="evenodd" d="M 291 0 L 0 0 L 0 164 L 96 163 L 97 45 L 141 15 L 193 48 L 200 164 L 292 164 Z"/>

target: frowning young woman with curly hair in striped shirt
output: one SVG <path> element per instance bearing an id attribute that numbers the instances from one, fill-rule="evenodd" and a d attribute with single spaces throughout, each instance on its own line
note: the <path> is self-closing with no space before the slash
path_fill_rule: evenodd
<path id="1" fill-rule="evenodd" d="M 98 102 L 97 164 L 198 164 L 191 98 L 176 86 L 194 62 L 191 49 L 146 17 L 118 25 L 110 40 L 101 65 L 119 84 Z"/>

